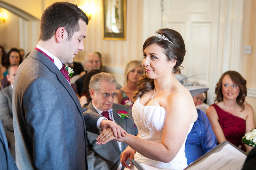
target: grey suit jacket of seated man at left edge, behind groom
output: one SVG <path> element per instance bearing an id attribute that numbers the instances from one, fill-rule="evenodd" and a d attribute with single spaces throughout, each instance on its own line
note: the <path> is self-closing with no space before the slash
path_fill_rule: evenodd
<path id="1" fill-rule="evenodd" d="M 12 108 L 13 88 L 8 86 L 0 91 L 0 119 L 4 131 L 13 133 L 13 108 Z"/>

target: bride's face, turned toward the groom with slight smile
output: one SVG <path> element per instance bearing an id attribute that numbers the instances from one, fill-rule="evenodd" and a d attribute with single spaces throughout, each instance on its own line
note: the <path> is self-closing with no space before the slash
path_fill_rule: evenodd
<path id="1" fill-rule="evenodd" d="M 173 61 L 168 61 L 163 53 L 163 48 L 157 44 L 147 46 L 143 51 L 144 59 L 142 64 L 149 79 L 157 79 L 173 72 Z"/>

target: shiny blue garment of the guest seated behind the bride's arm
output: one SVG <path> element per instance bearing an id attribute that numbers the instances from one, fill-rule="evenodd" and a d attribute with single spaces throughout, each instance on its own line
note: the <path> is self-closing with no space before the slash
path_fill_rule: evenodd
<path id="1" fill-rule="evenodd" d="M 195 121 L 191 132 L 187 135 L 185 144 L 187 165 L 217 146 L 217 139 L 208 117 L 199 109 L 197 109 L 197 114 L 197 121 Z"/>

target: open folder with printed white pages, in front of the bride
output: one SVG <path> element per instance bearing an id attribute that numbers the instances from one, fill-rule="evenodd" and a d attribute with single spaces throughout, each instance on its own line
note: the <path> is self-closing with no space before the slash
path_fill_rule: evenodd
<path id="1" fill-rule="evenodd" d="M 241 170 L 247 154 L 228 141 L 217 145 L 184 170 Z M 166 170 L 131 160 L 139 170 Z"/>

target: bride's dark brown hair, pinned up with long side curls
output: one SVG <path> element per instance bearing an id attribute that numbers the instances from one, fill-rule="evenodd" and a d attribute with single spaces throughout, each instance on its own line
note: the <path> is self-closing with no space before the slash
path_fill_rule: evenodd
<path id="1" fill-rule="evenodd" d="M 164 35 L 172 43 L 161 38 L 149 37 L 143 45 L 143 51 L 146 47 L 152 44 L 157 44 L 158 46 L 163 48 L 163 53 L 167 56 L 168 61 L 176 60 L 176 65 L 173 67 L 173 73 L 176 73 L 178 71 L 178 67 L 183 62 L 186 53 L 184 40 L 180 33 L 173 29 L 165 28 L 160 29 L 157 32 L 161 35 Z M 150 91 L 155 87 L 154 79 L 149 79 L 147 75 L 141 76 L 137 84 L 138 89 L 133 95 L 134 101 L 137 98 L 141 97 L 145 92 Z"/>

